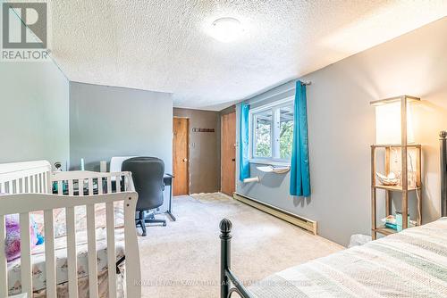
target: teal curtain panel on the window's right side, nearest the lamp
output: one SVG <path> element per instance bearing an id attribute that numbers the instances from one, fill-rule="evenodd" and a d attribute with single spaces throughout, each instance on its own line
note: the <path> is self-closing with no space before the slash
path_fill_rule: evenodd
<path id="1" fill-rule="evenodd" d="M 291 153 L 291 195 L 310 196 L 306 86 L 297 81 Z"/>

